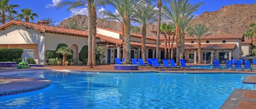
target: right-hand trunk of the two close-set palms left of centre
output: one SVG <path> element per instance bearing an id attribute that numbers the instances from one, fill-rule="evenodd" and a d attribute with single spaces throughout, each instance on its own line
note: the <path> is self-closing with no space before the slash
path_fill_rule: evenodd
<path id="1" fill-rule="evenodd" d="M 92 7 L 92 65 L 96 66 L 96 6 Z"/>

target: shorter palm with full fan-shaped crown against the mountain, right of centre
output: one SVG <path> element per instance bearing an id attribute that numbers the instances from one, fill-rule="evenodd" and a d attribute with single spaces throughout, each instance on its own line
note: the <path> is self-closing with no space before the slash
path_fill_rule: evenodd
<path id="1" fill-rule="evenodd" d="M 189 35 L 195 35 L 198 40 L 198 63 L 201 64 L 201 37 L 204 36 L 210 29 L 204 24 L 194 25 L 188 30 Z M 206 35 L 205 35 L 206 36 Z"/>

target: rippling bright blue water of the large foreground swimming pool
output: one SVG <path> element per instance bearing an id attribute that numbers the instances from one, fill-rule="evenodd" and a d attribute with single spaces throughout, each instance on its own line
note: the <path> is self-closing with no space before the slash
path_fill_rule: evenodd
<path id="1" fill-rule="evenodd" d="M 0 108 L 219 108 L 248 74 L 27 73 L 51 86 L 0 97 Z M 252 88 L 251 85 L 245 88 Z"/>

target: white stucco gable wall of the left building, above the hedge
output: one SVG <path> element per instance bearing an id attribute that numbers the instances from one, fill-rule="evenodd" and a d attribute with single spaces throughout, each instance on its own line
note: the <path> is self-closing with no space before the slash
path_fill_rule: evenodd
<path id="1" fill-rule="evenodd" d="M 44 34 L 19 25 L 10 25 L 0 31 L 0 44 L 38 44 L 38 63 L 44 64 Z"/>

